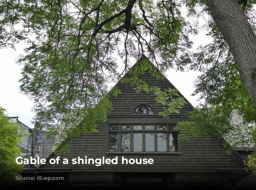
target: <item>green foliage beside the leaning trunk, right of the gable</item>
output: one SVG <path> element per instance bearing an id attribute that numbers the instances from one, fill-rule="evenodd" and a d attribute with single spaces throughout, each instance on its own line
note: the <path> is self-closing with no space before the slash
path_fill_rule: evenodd
<path id="1" fill-rule="evenodd" d="M 190 8 L 190 14 L 198 14 L 194 1 L 186 2 Z M 204 1 L 201 1 L 201 5 L 203 3 Z M 256 20 L 253 5 L 255 5 L 254 1 L 248 1 L 245 14 L 255 33 Z M 208 12 L 207 6 L 204 5 L 204 7 L 203 11 Z M 194 122 L 180 122 L 176 129 L 183 133 L 182 140 L 200 138 L 205 134 L 208 137 L 215 136 L 218 138 L 231 136 L 234 140 L 235 136 L 238 135 L 240 137 L 231 146 L 224 141 L 225 146 L 228 147 L 227 152 L 231 153 L 238 145 L 245 147 L 247 144 L 254 143 L 255 145 L 256 143 L 255 137 L 253 142 L 252 139 L 241 138 L 242 135 L 238 134 L 241 126 L 232 121 L 234 112 L 242 117 L 242 124 L 248 126 L 249 133 L 255 135 L 256 110 L 242 83 L 240 73 L 229 52 L 229 47 L 223 35 L 218 31 L 215 22 L 210 19 L 205 28 L 209 31 L 208 35 L 212 37 L 213 41 L 198 47 L 189 66 L 189 69 L 199 70 L 202 73 L 195 81 L 196 89 L 193 94 L 199 94 L 202 103 L 191 113 L 191 120 Z M 251 154 L 247 163 L 251 170 L 255 169 L 254 156 L 255 153 Z"/>

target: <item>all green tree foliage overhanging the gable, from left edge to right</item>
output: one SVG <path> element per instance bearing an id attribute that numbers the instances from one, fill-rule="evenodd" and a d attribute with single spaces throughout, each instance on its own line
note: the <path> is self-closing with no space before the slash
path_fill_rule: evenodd
<path id="1" fill-rule="evenodd" d="M 238 3 L 255 32 L 256 1 Z M 111 108 L 108 98 L 113 94 L 107 93 L 108 84 L 124 76 L 131 62 L 146 56 L 152 64 L 133 67 L 133 77 L 123 77 L 121 82 L 133 84 L 137 92 L 157 95 L 156 101 L 166 106 L 159 113 L 165 118 L 178 113 L 184 100 L 173 89 L 148 86 L 141 74 L 147 70 L 163 79 L 153 65 L 162 72 L 188 68 L 202 73 L 194 94 L 200 94 L 203 102 L 191 114 L 194 122 L 177 125 L 184 133 L 182 139 L 229 134 L 236 128 L 230 123 L 234 110 L 253 131 L 256 111 L 223 35 L 210 17 L 204 28 L 212 43 L 191 53 L 189 35 L 198 29 L 197 23 L 181 13 L 184 6 L 190 17 L 210 14 L 205 0 L 0 0 L 0 47 L 20 40 L 28 44 L 18 60 L 23 65 L 20 89 L 35 101 L 39 128 L 47 126 L 51 135 L 59 133 L 48 124 L 58 126 L 62 120 L 65 131 L 68 125 L 74 126 L 71 137 L 77 131 L 95 131 L 93 122 L 97 117 L 104 121 Z M 115 55 L 122 59 L 121 73 Z M 115 96 L 121 93 L 112 92 Z"/>

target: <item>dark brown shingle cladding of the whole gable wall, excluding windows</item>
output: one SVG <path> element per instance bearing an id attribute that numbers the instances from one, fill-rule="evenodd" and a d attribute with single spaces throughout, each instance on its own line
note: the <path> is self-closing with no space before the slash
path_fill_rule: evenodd
<path id="1" fill-rule="evenodd" d="M 150 85 L 157 85 L 162 89 L 174 88 L 165 79 L 156 80 L 150 73 L 144 74 L 144 79 Z M 154 108 L 156 113 L 163 111 L 164 107 L 155 101 L 155 95 L 151 93 L 137 94 L 134 87 L 129 84 L 118 84 L 117 87 L 123 94 L 112 99 L 114 110 L 110 116 L 132 115 L 133 110 L 139 104 L 148 104 Z M 188 112 L 193 110 L 193 106 L 187 104 L 180 110 L 180 121 L 188 120 Z M 110 117 L 109 116 L 109 117 Z M 132 121 L 131 121 L 132 122 Z M 100 123 L 98 132 L 81 134 L 71 142 L 71 151 L 61 158 L 68 158 L 70 161 L 77 156 L 88 158 L 114 158 L 124 156 L 125 158 L 153 158 L 153 165 L 50 165 L 42 166 L 42 169 L 73 169 L 73 172 L 218 172 L 218 169 L 244 169 L 243 160 L 237 155 L 228 155 L 222 145 L 222 140 L 210 138 L 205 140 L 191 139 L 188 142 L 180 143 L 181 155 L 107 155 L 108 151 L 108 123 Z M 56 157 L 56 156 L 54 156 Z M 119 159 L 120 161 L 120 159 Z"/>

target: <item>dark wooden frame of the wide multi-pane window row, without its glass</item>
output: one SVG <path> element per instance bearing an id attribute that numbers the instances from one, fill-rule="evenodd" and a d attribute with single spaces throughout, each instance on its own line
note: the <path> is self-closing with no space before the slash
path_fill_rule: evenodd
<path id="1" fill-rule="evenodd" d="M 116 125 L 118 126 L 118 130 L 110 130 L 110 127 Z M 123 125 L 130 125 L 129 130 L 122 130 L 121 126 Z M 142 130 L 134 130 L 134 125 L 142 125 Z M 145 130 L 146 125 L 154 125 L 154 130 Z M 158 130 L 157 125 L 166 125 L 165 130 Z M 181 154 L 181 147 L 180 141 L 178 141 L 178 150 L 177 151 L 170 151 L 169 149 L 169 134 L 176 133 L 177 135 L 180 134 L 179 131 L 171 129 L 170 126 L 175 126 L 173 123 L 110 123 L 108 125 L 108 150 L 106 154 Z M 117 151 L 110 151 L 110 134 L 111 133 L 118 133 L 118 150 Z M 130 151 L 122 151 L 122 133 L 130 133 Z M 142 151 L 134 152 L 134 133 L 142 133 Z M 146 133 L 154 133 L 154 151 L 145 151 L 146 150 L 146 143 L 145 143 L 145 135 Z M 158 151 L 158 133 L 165 133 L 166 134 L 166 151 Z"/>

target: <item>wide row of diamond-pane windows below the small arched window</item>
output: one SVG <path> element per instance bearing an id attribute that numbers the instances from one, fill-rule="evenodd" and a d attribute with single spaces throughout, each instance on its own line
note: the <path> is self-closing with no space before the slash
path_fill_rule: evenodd
<path id="1" fill-rule="evenodd" d="M 179 132 L 174 127 L 151 122 L 109 124 L 109 152 L 179 152 Z"/>

